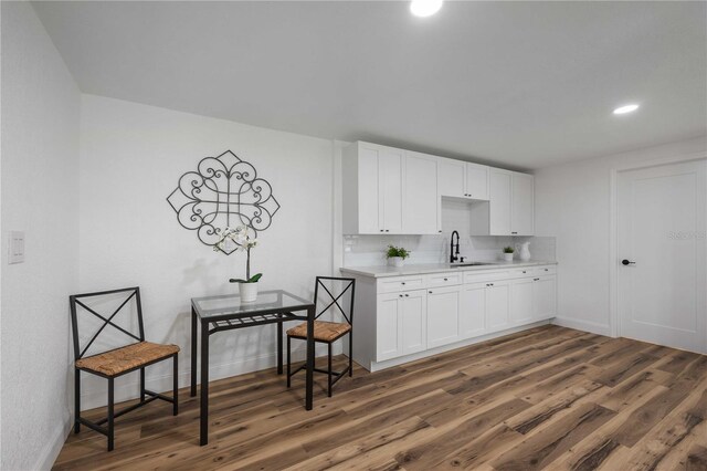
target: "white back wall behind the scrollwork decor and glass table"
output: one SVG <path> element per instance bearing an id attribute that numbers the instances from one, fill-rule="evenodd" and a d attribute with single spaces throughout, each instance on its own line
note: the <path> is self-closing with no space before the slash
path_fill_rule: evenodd
<path id="1" fill-rule="evenodd" d="M 81 291 L 139 285 L 149 341 L 182 347 L 189 383 L 190 297 L 235 291 L 244 254 L 225 257 L 183 229 L 167 202 L 179 177 L 226 149 L 253 164 L 281 203 L 253 250 L 261 290 L 312 297 L 314 278 L 333 266 L 334 143 L 233 122 L 84 95 L 81 125 Z M 211 338 L 211 378 L 275 364 L 275 326 Z M 167 390 L 171 365 L 148 369 Z M 116 399 L 135 397 L 137 373 L 116 381 Z M 83 406 L 105 404 L 105 381 L 86 380 Z"/>

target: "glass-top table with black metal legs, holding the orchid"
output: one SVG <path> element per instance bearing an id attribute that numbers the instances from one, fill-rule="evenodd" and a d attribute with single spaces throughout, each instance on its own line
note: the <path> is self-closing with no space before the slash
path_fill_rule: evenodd
<path id="1" fill-rule="evenodd" d="M 283 323 L 307 323 L 305 408 L 313 408 L 315 305 L 283 290 L 258 293 L 257 300 L 241 302 L 238 294 L 191 299 L 191 396 L 197 396 L 197 343 L 201 337 L 200 444 L 209 443 L 209 336 L 264 324 L 277 324 L 277 374 L 283 374 Z M 201 326 L 201 335 L 198 334 Z"/>

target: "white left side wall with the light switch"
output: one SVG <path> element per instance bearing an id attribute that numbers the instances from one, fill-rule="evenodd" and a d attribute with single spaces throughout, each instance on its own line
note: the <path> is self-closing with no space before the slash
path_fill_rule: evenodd
<path id="1" fill-rule="evenodd" d="M 80 93 L 29 2 L 2 2 L 2 469 L 51 467 L 70 423 Z M 7 239 L 25 231 L 22 264 Z"/>

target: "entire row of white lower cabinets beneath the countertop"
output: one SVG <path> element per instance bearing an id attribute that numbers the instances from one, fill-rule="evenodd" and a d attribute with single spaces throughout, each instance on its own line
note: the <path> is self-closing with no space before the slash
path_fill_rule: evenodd
<path id="1" fill-rule="evenodd" d="M 373 367 L 380 362 L 555 317 L 555 266 L 547 265 L 380 279 L 369 292 L 376 300 L 374 324 L 368 331 L 374 332 L 376 349 L 362 357 L 370 358 Z M 370 294 L 357 289 L 357 295 Z M 371 342 L 359 342 L 372 346 L 373 337 L 369 338 Z"/>

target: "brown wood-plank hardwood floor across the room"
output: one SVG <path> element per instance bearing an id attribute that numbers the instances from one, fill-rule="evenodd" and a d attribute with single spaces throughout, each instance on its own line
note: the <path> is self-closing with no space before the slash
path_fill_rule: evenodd
<path id="1" fill-rule="evenodd" d="M 707 470 L 707 356 L 557 326 L 369 374 L 334 397 L 274 369 L 116 421 L 116 449 L 71 435 L 55 469 Z M 103 410 L 92 411 L 98 417 Z"/>

